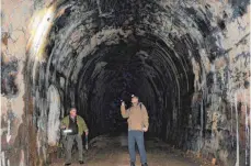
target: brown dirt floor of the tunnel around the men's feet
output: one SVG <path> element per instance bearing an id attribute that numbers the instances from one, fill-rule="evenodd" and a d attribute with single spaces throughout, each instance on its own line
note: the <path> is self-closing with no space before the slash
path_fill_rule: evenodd
<path id="1" fill-rule="evenodd" d="M 84 152 L 84 166 L 129 166 L 127 151 L 127 136 L 100 136 L 91 141 L 90 150 Z M 149 166 L 202 166 L 193 158 L 185 158 L 182 153 L 172 150 L 168 144 L 151 139 L 146 141 L 146 150 Z M 78 154 L 72 156 L 72 166 L 79 166 Z M 64 159 L 54 159 L 52 166 L 62 166 Z M 140 166 L 137 153 L 136 166 Z M 203 165 L 204 166 L 204 165 Z"/>

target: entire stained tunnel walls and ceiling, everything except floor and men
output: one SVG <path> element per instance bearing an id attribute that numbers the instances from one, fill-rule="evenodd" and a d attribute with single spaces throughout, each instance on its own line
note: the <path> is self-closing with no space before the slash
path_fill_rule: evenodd
<path id="1" fill-rule="evenodd" d="M 148 109 L 149 135 L 221 165 L 251 165 L 249 1 L 2 7 L 5 165 L 46 164 L 70 107 L 92 137 L 124 130 L 118 102 L 130 93 Z"/>

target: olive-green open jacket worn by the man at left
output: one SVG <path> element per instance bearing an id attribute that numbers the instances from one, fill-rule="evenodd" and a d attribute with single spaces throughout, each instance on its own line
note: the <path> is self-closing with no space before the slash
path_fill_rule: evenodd
<path id="1" fill-rule="evenodd" d="M 61 120 L 61 125 L 66 125 L 67 129 L 69 128 L 69 123 L 70 123 L 69 115 L 65 117 Z M 88 132 L 87 123 L 80 115 L 77 115 L 77 124 L 79 129 L 79 135 L 82 135 L 83 132 Z"/>

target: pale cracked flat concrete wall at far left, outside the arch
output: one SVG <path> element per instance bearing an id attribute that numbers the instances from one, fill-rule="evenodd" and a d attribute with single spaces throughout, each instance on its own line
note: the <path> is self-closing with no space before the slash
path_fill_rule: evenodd
<path id="1" fill-rule="evenodd" d="M 1 3 L 1 165 L 25 166 L 28 115 L 24 107 L 23 67 L 34 3 L 32 0 Z"/>

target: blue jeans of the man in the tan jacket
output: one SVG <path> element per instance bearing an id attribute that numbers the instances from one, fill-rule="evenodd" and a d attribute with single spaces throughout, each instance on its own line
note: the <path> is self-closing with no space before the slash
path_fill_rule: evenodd
<path id="1" fill-rule="evenodd" d="M 141 164 L 147 163 L 147 155 L 144 143 L 144 132 L 141 131 L 128 131 L 128 148 L 130 162 L 136 162 L 135 142 L 138 145 Z"/>

